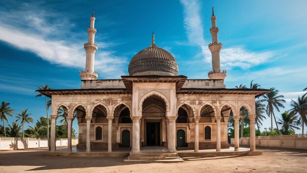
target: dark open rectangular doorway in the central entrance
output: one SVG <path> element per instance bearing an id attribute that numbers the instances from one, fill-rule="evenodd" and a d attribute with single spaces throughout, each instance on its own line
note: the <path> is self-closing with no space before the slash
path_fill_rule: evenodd
<path id="1" fill-rule="evenodd" d="M 160 122 L 146 122 L 146 146 L 160 146 Z"/>

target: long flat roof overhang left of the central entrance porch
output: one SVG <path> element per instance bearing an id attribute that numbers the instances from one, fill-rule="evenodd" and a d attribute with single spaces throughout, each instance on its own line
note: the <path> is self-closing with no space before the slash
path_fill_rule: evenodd
<path id="1" fill-rule="evenodd" d="M 126 88 L 95 88 L 95 89 L 47 89 L 36 90 L 51 98 L 51 95 L 85 95 L 85 94 L 127 94 Z"/>

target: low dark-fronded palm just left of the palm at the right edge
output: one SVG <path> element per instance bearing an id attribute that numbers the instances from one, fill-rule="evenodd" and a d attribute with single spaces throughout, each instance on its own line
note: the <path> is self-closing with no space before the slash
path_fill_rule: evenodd
<path id="1" fill-rule="evenodd" d="M 288 130 L 299 130 L 300 128 L 297 127 L 299 121 L 299 115 L 295 115 L 292 112 L 285 111 L 281 114 L 281 118 L 278 118 L 278 124 L 282 125 L 281 130 L 284 131 L 285 135 L 288 135 Z"/>

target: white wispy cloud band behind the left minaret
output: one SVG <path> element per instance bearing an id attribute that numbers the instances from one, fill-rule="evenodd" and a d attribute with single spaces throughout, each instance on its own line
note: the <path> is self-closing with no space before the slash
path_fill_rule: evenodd
<path id="1" fill-rule="evenodd" d="M 84 69 L 83 43 L 87 37 L 82 40 L 74 39 L 78 33 L 69 31 L 74 24 L 70 24 L 69 19 L 63 16 L 61 21 L 56 20 L 59 14 L 47 13 L 34 6 L 28 7 L 29 4 L 22 5 L 22 9 L 26 10 L 0 12 L 0 41 L 32 52 L 51 63 Z M 8 21 L 14 21 L 14 24 Z M 115 51 L 110 50 L 114 43 L 97 44 L 99 50 L 95 58 L 96 70 L 104 77 L 118 77 L 123 74 L 121 67 L 126 63 L 126 58 L 118 57 Z"/>

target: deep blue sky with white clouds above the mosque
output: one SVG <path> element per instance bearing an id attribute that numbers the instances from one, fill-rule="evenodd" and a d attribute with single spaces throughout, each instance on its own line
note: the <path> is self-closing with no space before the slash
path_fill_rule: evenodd
<path id="1" fill-rule="evenodd" d="M 176 58 L 179 75 L 207 79 L 212 6 L 226 87 L 249 87 L 251 80 L 276 87 L 287 101 L 281 111 L 288 110 L 307 87 L 306 0 L 2 1 L 0 101 L 16 112 L 28 108 L 35 122 L 46 115 L 44 99 L 35 98 L 37 87 L 80 88 L 93 8 L 99 79 L 128 75 L 130 59 L 151 44 L 152 31 L 156 45 Z M 269 126 L 267 119 L 263 127 Z"/>

